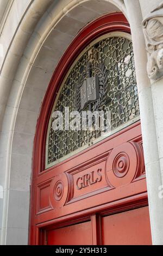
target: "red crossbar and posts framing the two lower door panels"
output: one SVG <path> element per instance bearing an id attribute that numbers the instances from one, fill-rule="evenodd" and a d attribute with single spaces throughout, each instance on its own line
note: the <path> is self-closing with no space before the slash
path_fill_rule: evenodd
<path id="1" fill-rule="evenodd" d="M 63 228 L 68 225 L 78 224 L 85 221 L 91 221 L 92 245 L 102 245 L 102 217 L 118 214 L 128 210 L 139 209 L 148 206 L 147 192 L 137 194 L 130 198 L 121 199 L 117 202 L 103 205 L 101 209 L 92 209 L 92 211 L 80 212 L 75 215 L 67 215 L 64 218 L 40 223 L 36 227 L 36 244 L 47 245 L 47 231 L 51 229 Z M 150 223 L 149 223 L 150 224 Z"/>

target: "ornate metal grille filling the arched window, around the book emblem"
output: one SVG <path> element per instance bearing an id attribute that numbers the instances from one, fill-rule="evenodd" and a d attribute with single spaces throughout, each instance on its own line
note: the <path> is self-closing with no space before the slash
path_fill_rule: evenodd
<path id="1" fill-rule="evenodd" d="M 52 113 L 61 111 L 65 117 L 65 107 L 69 107 L 70 112 L 81 112 L 80 88 L 87 77 L 88 62 L 91 63 L 92 76 L 98 76 L 99 96 L 84 110 L 109 111 L 109 129 L 101 130 L 99 127 L 97 130 L 54 131 L 54 118 L 51 114 L 46 144 L 46 167 L 139 119 L 133 45 L 130 35 L 122 32 L 101 36 L 86 47 L 67 73 Z"/>

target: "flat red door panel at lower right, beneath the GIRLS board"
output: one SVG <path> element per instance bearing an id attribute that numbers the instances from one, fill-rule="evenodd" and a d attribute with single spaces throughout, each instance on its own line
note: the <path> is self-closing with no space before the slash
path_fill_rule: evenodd
<path id="1" fill-rule="evenodd" d="M 103 245 L 152 245 L 148 206 L 102 217 Z"/>

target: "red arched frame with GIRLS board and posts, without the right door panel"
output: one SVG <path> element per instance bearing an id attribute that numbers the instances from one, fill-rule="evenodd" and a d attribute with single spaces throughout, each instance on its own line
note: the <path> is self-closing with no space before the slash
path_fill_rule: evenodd
<path id="1" fill-rule="evenodd" d="M 104 15 L 82 29 L 61 58 L 49 83 L 34 140 L 30 198 L 31 245 L 45 244 L 47 235 L 48 243 L 60 243 L 60 240 L 53 238 L 60 237 L 61 230 L 66 230 L 68 234 L 72 231 L 68 225 L 73 225 L 76 234 L 79 222 L 84 227 L 87 220 L 91 220 L 91 243 L 101 243 L 100 220 L 103 214 L 115 214 L 148 204 L 139 121 L 45 170 L 48 120 L 61 82 L 86 45 L 111 31 L 130 33 L 123 14 Z M 117 154 L 121 156 L 122 151 L 127 154 L 128 172 L 120 178 L 110 164 L 116 168 Z M 81 237 L 84 234 L 81 233 Z M 71 243 L 68 239 L 69 236 L 64 243 Z M 86 243 L 91 244 L 90 241 Z"/>

